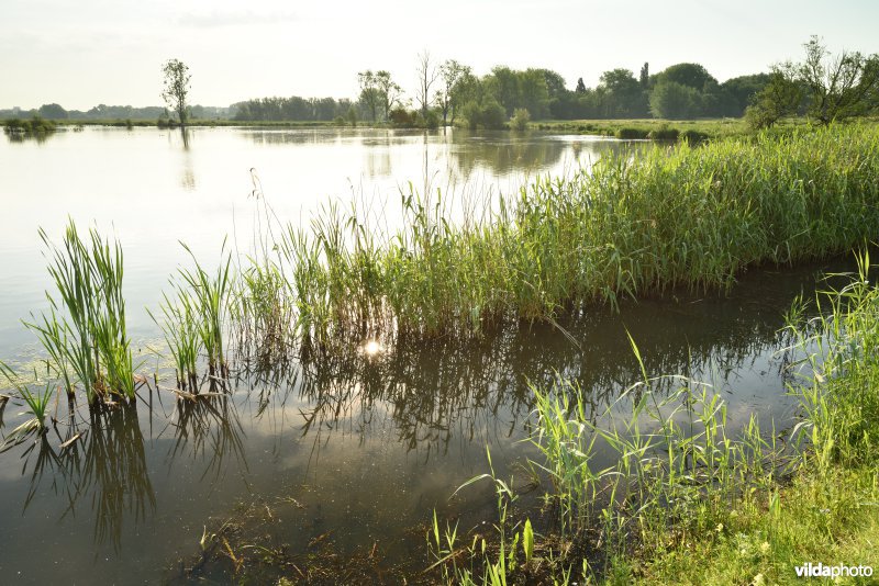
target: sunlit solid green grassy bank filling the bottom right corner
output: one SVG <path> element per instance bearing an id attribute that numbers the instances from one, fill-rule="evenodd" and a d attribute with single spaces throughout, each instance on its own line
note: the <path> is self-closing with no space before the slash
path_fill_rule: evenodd
<path id="1" fill-rule="evenodd" d="M 804 443 L 789 482 L 736 499 L 723 531 L 644 555 L 641 582 L 797 584 L 806 562 L 879 571 L 879 288 L 868 264 L 816 300 L 825 317 L 794 324 L 811 374 L 791 388 Z"/>

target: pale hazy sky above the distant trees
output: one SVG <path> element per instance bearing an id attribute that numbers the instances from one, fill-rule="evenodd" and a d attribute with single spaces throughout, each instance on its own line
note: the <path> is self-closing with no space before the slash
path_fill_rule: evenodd
<path id="1" fill-rule="evenodd" d="M 2 0 L 0 20 L 0 108 L 158 105 L 171 57 L 190 67 L 191 103 L 229 105 L 354 97 L 368 68 L 411 97 L 425 48 L 480 75 L 547 67 L 570 88 L 644 61 L 698 61 L 723 81 L 800 57 L 811 34 L 879 52 L 876 0 Z"/>

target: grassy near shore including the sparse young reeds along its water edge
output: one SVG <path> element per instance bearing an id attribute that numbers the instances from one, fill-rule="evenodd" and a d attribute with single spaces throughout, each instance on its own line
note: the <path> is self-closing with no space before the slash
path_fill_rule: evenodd
<path id="1" fill-rule="evenodd" d="M 429 534 L 443 581 L 800 584 L 798 567 L 812 563 L 842 574 L 824 583 L 875 584 L 865 573 L 879 568 L 879 288 L 864 261 L 850 284 L 819 294 L 822 317 L 791 314 L 802 377 L 788 429 L 752 415 L 733 430 L 723 398 L 681 376 L 658 394 L 669 377 L 644 372 L 598 418 L 572 383 L 535 388 L 534 465 L 550 481 L 552 522 L 535 533 L 528 516 L 541 514 L 513 512 L 513 483 L 487 475 L 493 536 L 446 545 L 439 523 Z M 599 466 L 608 453 L 613 463 Z"/>

